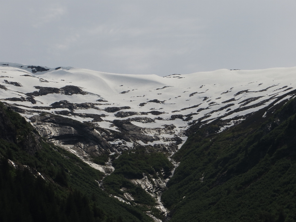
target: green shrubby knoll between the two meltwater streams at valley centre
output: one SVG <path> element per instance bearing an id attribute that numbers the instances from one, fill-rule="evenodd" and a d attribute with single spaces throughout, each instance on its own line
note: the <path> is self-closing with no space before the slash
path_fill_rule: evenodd
<path id="1" fill-rule="evenodd" d="M 111 194 L 123 195 L 128 192 L 133 195 L 134 202 L 140 204 L 154 205 L 155 200 L 141 187 L 138 187 L 128 179 L 142 179 L 143 174 L 150 178 L 163 177 L 162 170 L 170 172 L 173 164 L 163 153 L 146 153 L 146 149 L 138 149 L 122 152 L 113 161 L 115 171 L 104 180 L 104 188 Z M 122 191 L 122 188 L 124 191 Z"/>

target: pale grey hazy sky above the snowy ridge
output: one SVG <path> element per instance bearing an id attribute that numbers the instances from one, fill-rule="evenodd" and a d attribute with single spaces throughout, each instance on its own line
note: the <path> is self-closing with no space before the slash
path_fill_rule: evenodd
<path id="1" fill-rule="evenodd" d="M 295 0 L 0 0 L 0 61 L 158 76 L 294 67 L 295 9 Z"/>

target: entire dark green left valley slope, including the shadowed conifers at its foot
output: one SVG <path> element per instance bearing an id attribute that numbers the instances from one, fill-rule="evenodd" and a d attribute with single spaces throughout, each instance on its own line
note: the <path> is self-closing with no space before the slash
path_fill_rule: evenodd
<path id="1" fill-rule="evenodd" d="M 0 221 L 151 221 L 140 206 L 99 188 L 100 171 L 40 138 L 1 103 L 0 116 Z"/>

